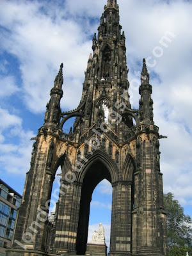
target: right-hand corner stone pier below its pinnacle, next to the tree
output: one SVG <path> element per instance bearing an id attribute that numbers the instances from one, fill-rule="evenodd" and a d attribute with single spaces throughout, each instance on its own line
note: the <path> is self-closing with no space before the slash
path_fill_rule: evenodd
<path id="1" fill-rule="evenodd" d="M 140 146 L 137 145 L 138 170 L 134 173 L 132 253 L 140 253 L 138 255 L 166 255 L 166 249 L 163 249 L 166 248 L 163 183 L 162 175 L 156 168 L 156 147 L 152 138 L 152 134 L 143 134 Z"/>

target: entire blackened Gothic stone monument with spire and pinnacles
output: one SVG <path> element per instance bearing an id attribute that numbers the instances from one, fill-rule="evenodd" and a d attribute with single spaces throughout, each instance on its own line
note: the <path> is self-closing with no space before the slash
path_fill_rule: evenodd
<path id="1" fill-rule="evenodd" d="M 12 248 L 7 256 L 85 255 L 92 193 L 103 179 L 113 187 L 109 254 L 167 256 L 159 128 L 145 59 L 140 108 L 129 102 L 125 33 L 116 0 L 108 0 L 85 71 L 76 109 L 62 112 L 63 64 L 33 145 Z M 69 133 L 65 122 L 76 117 Z M 47 220 L 61 166 L 54 224 Z M 99 248 L 92 246 L 92 248 Z M 97 250 L 97 249 L 95 249 Z M 100 251 L 92 252 L 99 255 Z"/>

